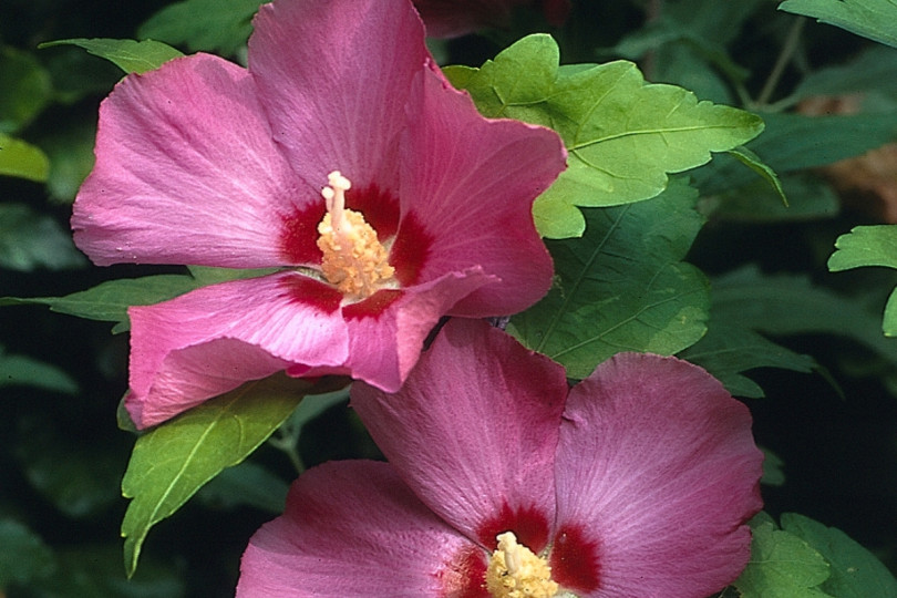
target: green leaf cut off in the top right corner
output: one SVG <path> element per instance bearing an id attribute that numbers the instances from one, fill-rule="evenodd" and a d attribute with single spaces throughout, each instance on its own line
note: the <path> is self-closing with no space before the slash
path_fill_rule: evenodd
<path id="1" fill-rule="evenodd" d="M 779 10 L 813 17 L 887 45 L 897 47 L 894 0 L 785 0 Z"/>

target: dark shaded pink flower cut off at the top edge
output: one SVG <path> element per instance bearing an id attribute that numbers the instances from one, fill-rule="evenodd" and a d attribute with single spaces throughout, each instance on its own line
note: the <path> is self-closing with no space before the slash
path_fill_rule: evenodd
<path id="1" fill-rule="evenodd" d="M 488 27 L 505 27 L 512 12 L 539 4 L 545 19 L 560 27 L 570 13 L 570 0 L 414 0 L 433 38 L 456 38 Z"/>

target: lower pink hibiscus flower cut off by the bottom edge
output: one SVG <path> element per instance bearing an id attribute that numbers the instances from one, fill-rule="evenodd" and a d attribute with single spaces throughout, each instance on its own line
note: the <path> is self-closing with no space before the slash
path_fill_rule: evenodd
<path id="1" fill-rule="evenodd" d="M 402 390 L 357 383 L 352 404 L 390 462 L 302 474 L 249 542 L 239 597 L 700 598 L 750 557 L 751 415 L 684 361 L 622 353 L 569 389 L 452 320 Z"/>

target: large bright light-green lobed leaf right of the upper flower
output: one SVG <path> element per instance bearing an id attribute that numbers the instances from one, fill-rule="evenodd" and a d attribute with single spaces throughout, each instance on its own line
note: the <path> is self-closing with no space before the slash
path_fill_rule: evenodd
<path id="1" fill-rule="evenodd" d="M 447 68 L 481 113 L 549 126 L 569 152 L 568 168 L 534 207 L 543 236 L 581 235 L 574 206 L 616 206 L 649 199 L 679 173 L 756 136 L 763 121 L 673 85 L 647 84 L 626 61 L 558 69 L 555 41 L 529 35 L 481 69 Z M 527 73 L 520 78 L 520 73 Z"/>

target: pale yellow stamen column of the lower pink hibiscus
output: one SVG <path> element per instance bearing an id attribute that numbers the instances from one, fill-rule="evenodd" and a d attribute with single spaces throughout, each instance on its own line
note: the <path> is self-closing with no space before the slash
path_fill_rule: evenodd
<path id="1" fill-rule="evenodd" d="M 489 558 L 486 588 L 494 598 L 551 598 L 558 585 L 551 580 L 551 567 L 544 558 L 517 544 L 513 532 L 499 534 L 498 549 Z"/>

